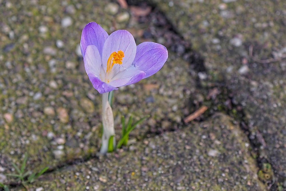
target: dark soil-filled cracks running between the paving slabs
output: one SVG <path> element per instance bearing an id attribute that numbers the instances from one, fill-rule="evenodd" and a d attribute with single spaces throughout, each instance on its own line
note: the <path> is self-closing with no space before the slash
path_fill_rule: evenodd
<path id="1" fill-rule="evenodd" d="M 171 22 L 166 18 L 166 16 L 164 15 L 164 13 L 162 13 L 161 11 L 159 11 L 157 8 L 156 8 L 156 5 L 150 1 L 148 1 L 147 3 L 145 1 L 142 1 L 142 0 L 127 0 L 128 2 L 128 5 L 134 5 L 134 6 L 149 6 L 151 7 L 151 13 L 149 15 L 147 15 L 146 17 L 150 17 L 151 14 L 157 14 L 159 15 L 160 17 L 163 17 L 166 21 L 166 25 L 168 26 L 168 31 L 172 33 L 172 40 L 174 40 L 174 44 L 170 45 L 170 46 L 167 46 L 167 48 L 171 49 L 172 51 L 176 52 L 178 54 L 178 56 L 182 56 L 182 58 L 184 58 L 184 60 L 186 60 L 189 64 L 190 64 L 190 67 L 195 70 L 197 73 L 198 72 L 205 72 L 206 74 L 208 73 L 207 70 L 206 70 L 206 67 L 204 66 L 204 59 L 202 58 L 202 56 L 200 54 L 198 54 L 197 52 L 193 51 L 192 48 L 191 48 L 191 44 L 189 42 L 185 42 L 184 41 L 184 38 L 180 35 L 180 33 L 176 30 L 176 27 L 174 27 Z M 142 4 L 143 3 L 143 4 Z M 144 20 L 144 19 L 143 19 Z M 148 19 L 147 19 L 148 20 Z M 150 20 L 150 18 L 149 18 Z M 148 25 L 150 23 L 147 23 Z M 160 24 L 160 23 L 159 23 Z M 155 26 L 156 28 L 156 31 L 157 30 L 166 30 L 164 29 L 162 26 Z M 156 39 L 156 35 L 152 32 L 151 32 L 151 35 L 152 37 L 154 37 Z M 178 50 L 178 46 L 184 46 L 184 52 L 180 52 Z M 223 82 L 221 82 L 223 84 Z M 197 76 L 196 78 L 196 85 L 197 85 L 197 88 L 198 89 L 201 89 L 202 91 L 204 91 L 204 94 L 206 95 L 207 92 L 210 90 L 209 88 L 204 88 L 202 85 L 201 85 L 201 80 L 200 78 Z M 217 86 L 218 88 L 222 88 L 222 87 L 219 87 Z M 222 91 L 223 92 L 223 91 Z M 228 97 L 228 99 L 232 99 L 232 97 L 230 97 L 229 95 L 231 94 L 231 91 L 230 90 L 226 90 L 223 94 L 221 94 L 223 97 Z M 188 105 L 192 105 L 192 98 L 190 98 L 190 104 Z M 211 103 L 211 107 L 209 107 L 209 110 L 212 110 L 216 105 L 213 103 Z M 233 116 L 233 114 L 231 113 L 230 110 L 224 110 L 224 111 L 221 111 L 222 113 L 225 113 L 226 115 L 234 118 L 236 121 L 239 122 L 239 126 L 240 126 L 240 129 L 243 131 L 243 133 L 248 137 L 248 140 L 249 140 L 249 143 L 250 143 L 250 146 L 251 146 L 251 149 L 255 152 L 255 155 L 257 156 L 256 158 L 253 157 L 253 155 L 251 155 L 255 161 L 256 161 L 256 166 L 261 169 L 261 165 L 265 162 L 271 164 L 269 162 L 269 160 L 265 159 L 265 158 L 260 158 L 260 152 L 259 152 L 259 141 L 257 141 L 257 137 L 254 135 L 252 135 L 250 129 L 248 128 L 248 123 L 247 121 L 245 121 L 245 113 L 243 112 L 243 110 L 241 109 L 237 109 L 237 108 L 240 108 L 241 106 L 239 104 L 234 104 L 232 101 L 231 101 L 231 107 L 232 108 L 236 108 L 236 110 L 238 111 L 237 113 L 237 116 Z M 192 107 L 192 109 L 198 109 L 198 106 L 194 106 Z M 215 110 L 215 109 L 213 109 Z M 215 113 L 215 111 L 214 111 Z M 214 115 L 214 113 L 209 113 L 209 114 L 203 114 L 203 116 L 200 118 L 200 121 L 199 122 L 202 122 L 202 121 L 207 121 L 208 119 L 210 119 L 212 117 L 212 115 Z M 174 122 L 173 122 L 174 123 Z M 181 123 L 178 124 L 178 128 L 176 129 L 168 129 L 164 132 L 159 132 L 159 131 L 156 131 L 156 132 L 151 132 L 151 131 L 148 131 L 145 133 L 144 136 L 142 136 L 141 139 L 137 139 L 138 142 L 143 142 L 145 139 L 148 139 L 150 137 L 155 137 L 156 135 L 161 135 L 165 132 L 172 132 L 172 131 L 176 131 L 177 129 L 180 129 L 180 128 L 184 128 L 186 127 L 187 125 L 183 123 L 183 121 L 181 121 Z M 73 165 L 78 165 L 78 164 L 82 164 L 82 163 L 85 163 L 85 162 L 88 162 L 89 160 L 91 159 L 99 159 L 98 158 L 98 153 L 94 154 L 94 155 L 90 155 L 90 156 L 87 156 L 87 157 L 84 157 L 82 159 L 74 159 L 72 161 L 67 161 L 67 162 L 64 162 L 64 163 L 61 163 L 59 165 L 57 165 L 56 167 L 48 170 L 47 172 L 45 172 L 43 175 L 48 175 L 48 174 L 51 174 L 53 172 L 56 172 L 56 171 L 59 171 L 61 170 L 62 168 L 67 168 L 68 166 L 73 166 Z M 272 168 L 273 168 L 273 165 L 271 165 Z M 275 169 L 274 169 L 274 176 L 275 178 L 277 178 L 277 174 L 275 174 Z M 279 175 L 278 175 L 279 176 Z M 260 180 L 261 181 L 261 180 Z M 261 181 L 262 182 L 262 181 Z M 274 184 L 272 185 L 272 187 L 270 188 L 271 190 L 273 188 L 275 188 L 275 182 Z M 12 182 L 11 184 L 8 184 L 9 186 L 11 186 L 12 188 L 17 188 L 17 187 L 21 187 L 21 184 L 19 182 Z"/>

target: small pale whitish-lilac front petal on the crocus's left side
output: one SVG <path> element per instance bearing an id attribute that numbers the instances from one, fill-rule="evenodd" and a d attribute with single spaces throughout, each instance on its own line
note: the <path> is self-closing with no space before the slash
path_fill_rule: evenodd
<path id="1" fill-rule="evenodd" d="M 84 55 L 84 68 L 88 75 L 93 74 L 96 77 L 100 76 L 101 56 L 98 49 L 94 45 L 89 45 L 86 48 Z"/>

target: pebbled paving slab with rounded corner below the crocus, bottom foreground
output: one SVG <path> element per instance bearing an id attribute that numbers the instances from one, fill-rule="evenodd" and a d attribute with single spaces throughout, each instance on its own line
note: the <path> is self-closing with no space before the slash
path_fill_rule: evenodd
<path id="1" fill-rule="evenodd" d="M 42 176 L 31 188 L 266 190 L 245 146 L 249 142 L 233 122 L 217 113 L 203 123 L 134 143 L 133 151 L 120 149 Z"/>

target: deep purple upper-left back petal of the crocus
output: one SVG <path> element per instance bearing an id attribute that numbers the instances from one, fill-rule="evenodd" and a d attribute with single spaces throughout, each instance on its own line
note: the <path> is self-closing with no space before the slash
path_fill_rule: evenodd
<path id="1" fill-rule="evenodd" d="M 82 56 L 84 57 L 88 45 L 96 46 L 99 54 L 102 55 L 102 48 L 107 38 L 107 32 L 99 24 L 95 22 L 88 23 L 82 30 L 82 38 L 80 39 Z"/>

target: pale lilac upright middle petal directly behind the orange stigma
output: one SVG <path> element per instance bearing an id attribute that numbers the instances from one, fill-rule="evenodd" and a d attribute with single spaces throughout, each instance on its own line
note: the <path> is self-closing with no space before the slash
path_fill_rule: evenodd
<path id="1" fill-rule="evenodd" d="M 120 71 L 122 71 L 129 68 L 136 54 L 136 43 L 130 32 L 126 30 L 117 30 L 110 34 L 106 39 L 102 50 L 102 66 L 105 71 L 110 54 L 112 52 L 118 52 L 118 50 L 124 52 L 124 57 L 122 64 L 114 64 L 114 67 L 120 67 Z"/>

